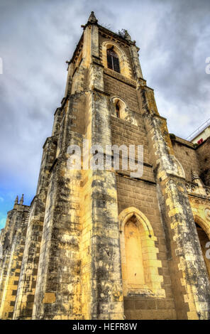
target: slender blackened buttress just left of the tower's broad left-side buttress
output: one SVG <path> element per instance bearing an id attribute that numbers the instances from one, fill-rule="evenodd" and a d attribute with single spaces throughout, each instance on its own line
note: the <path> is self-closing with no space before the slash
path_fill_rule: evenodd
<path id="1" fill-rule="evenodd" d="M 40 243 L 43 234 L 45 216 L 45 201 L 49 185 L 50 168 L 55 159 L 57 139 L 49 137 L 43 146 L 43 158 L 38 179 L 37 194 L 31 203 L 28 217 L 26 246 L 23 253 L 20 280 L 13 318 L 31 319 L 33 301 L 37 280 L 38 262 L 40 257 Z"/>

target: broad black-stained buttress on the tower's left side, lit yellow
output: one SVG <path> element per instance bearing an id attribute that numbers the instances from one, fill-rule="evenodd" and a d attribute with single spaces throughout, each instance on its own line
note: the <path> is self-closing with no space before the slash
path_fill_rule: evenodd
<path id="1" fill-rule="evenodd" d="M 67 99 L 63 108 L 57 158 L 50 173 L 33 307 L 35 319 L 70 319 L 80 313 L 77 301 L 80 172 L 68 171 L 67 147 L 80 144 L 82 135 L 72 130 L 73 109 L 74 96 Z"/>

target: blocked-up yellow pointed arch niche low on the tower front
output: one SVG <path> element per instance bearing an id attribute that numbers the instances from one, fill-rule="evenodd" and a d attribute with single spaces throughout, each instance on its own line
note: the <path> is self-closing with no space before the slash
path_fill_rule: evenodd
<path id="1" fill-rule="evenodd" d="M 160 261 L 153 227 L 137 208 L 126 208 L 119 215 L 123 296 L 165 297 L 158 272 Z"/>

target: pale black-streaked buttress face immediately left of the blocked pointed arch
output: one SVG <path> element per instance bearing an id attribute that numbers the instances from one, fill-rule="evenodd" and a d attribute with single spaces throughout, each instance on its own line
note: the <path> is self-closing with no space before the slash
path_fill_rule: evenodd
<path id="1" fill-rule="evenodd" d="M 109 101 L 92 95 L 92 144 L 111 144 Z M 111 171 L 92 171 L 92 318 L 122 319 L 116 178 Z"/>

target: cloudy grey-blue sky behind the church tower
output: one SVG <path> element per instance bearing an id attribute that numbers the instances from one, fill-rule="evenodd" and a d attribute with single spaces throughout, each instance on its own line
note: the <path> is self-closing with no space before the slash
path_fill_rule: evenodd
<path id="1" fill-rule="evenodd" d="M 16 195 L 35 195 L 42 146 L 65 91 L 67 65 L 94 11 L 126 28 L 169 131 L 187 138 L 210 118 L 209 0 L 1 0 L 0 228 Z"/>

